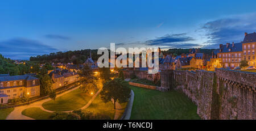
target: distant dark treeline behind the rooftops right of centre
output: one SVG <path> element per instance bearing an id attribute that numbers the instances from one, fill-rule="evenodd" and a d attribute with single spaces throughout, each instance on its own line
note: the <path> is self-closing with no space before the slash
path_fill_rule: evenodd
<path id="1" fill-rule="evenodd" d="M 189 51 L 191 50 L 196 50 L 196 49 L 168 49 L 166 51 L 163 51 L 163 54 L 172 54 L 174 56 L 179 56 L 180 54 L 187 54 L 189 53 Z M 198 53 L 205 53 L 205 54 L 209 54 L 212 55 L 212 51 L 215 50 L 215 49 L 197 49 L 198 50 Z"/>

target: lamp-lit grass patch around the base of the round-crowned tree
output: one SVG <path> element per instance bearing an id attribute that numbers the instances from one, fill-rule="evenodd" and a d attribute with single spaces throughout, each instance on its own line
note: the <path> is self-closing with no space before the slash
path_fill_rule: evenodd
<path id="1" fill-rule="evenodd" d="M 102 102 L 100 95 L 98 95 L 93 100 L 93 104 L 90 104 L 89 107 L 86 108 L 86 111 L 90 111 L 93 113 L 104 113 L 105 115 L 108 115 L 111 119 L 114 119 L 115 116 L 114 104 L 112 102 Z"/>

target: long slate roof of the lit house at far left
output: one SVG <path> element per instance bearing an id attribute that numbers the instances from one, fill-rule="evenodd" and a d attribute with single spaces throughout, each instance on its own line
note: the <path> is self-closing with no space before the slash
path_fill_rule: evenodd
<path id="1" fill-rule="evenodd" d="M 0 77 L 1 82 L 6 82 L 6 81 L 18 81 L 18 80 L 34 80 L 38 79 L 36 77 L 32 77 L 31 75 L 14 75 L 14 76 L 7 76 L 7 77 Z"/>

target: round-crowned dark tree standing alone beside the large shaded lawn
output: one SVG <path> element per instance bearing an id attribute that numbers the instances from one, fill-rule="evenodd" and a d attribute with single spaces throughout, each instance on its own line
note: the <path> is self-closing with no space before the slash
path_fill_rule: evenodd
<path id="1" fill-rule="evenodd" d="M 124 103 L 130 98 L 130 88 L 119 78 L 115 78 L 111 81 L 104 83 L 100 92 L 101 100 L 104 103 L 110 102 L 112 99 L 115 102 Z"/>

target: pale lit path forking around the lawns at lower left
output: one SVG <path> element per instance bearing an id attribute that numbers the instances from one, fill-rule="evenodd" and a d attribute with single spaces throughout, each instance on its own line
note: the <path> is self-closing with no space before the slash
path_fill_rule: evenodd
<path id="1" fill-rule="evenodd" d="M 56 98 L 57 98 L 57 97 L 60 97 L 60 96 L 62 96 L 62 95 L 65 95 L 65 94 L 67 94 L 68 92 L 71 92 L 71 91 L 73 91 L 73 90 L 76 90 L 77 88 L 79 88 L 79 86 L 77 86 L 77 87 L 75 87 L 75 88 L 72 88 L 71 90 L 65 91 L 65 92 L 63 92 L 62 94 L 57 95 Z M 27 108 L 30 108 L 30 107 L 39 107 L 39 108 L 43 109 L 43 111 L 53 112 L 53 111 L 49 111 L 49 110 L 47 110 L 47 109 L 44 109 L 44 108 L 42 107 L 42 104 L 45 103 L 45 102 L 47 102 L 47 101 L 49 101 L 49 100 L 51 100 L 51 98 L 47 98 L 47 99 L 44 99 L 44 100 L 40 100 L 40 101 L 38 101 L 38 102 L 29 104 L 29 105 L 23 105 L 23 106 L 20 106 L 20 107 L 15 107 L 14 110 L 13 110 L 13 112 L 11 112 L 11 113 L 7 116 L 6 120 L 33 120 L 33 119 L 30 118 L 30 117 L 27 117 L 27 116 L 22 115 L 22 111 L 23 111 L 24 109 L 27 109 Z"/>

